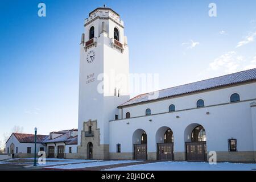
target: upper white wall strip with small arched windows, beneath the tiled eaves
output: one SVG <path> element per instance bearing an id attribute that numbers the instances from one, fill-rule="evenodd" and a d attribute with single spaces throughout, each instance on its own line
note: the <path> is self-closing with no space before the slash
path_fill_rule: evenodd
<path id="1" fill-rule="evenodd" d="M 175 97 L 157 102 L 148 102 L 142 105 L 123 107 L 123 118 L 125 118 L 126 112 L 130 112 L 131 117 L 145 115 L 147 108 L 151 109 L 151 114 L 168 112 L 169 106 L 171 104 L 175 105 L 176 110 L 190 109 L 196 107 L 196 102 L 199 99 L 204 100 L 205 106 L 222 104 L 230 102 L 230 96 L 233 93 L 240 94 L 240 100 L 256 98 L 256 83 L 254 82 L 252 84 L 233 86 L 221 90 L 213 90 L 203 93 L 191 94 L 188 96 Z"/>

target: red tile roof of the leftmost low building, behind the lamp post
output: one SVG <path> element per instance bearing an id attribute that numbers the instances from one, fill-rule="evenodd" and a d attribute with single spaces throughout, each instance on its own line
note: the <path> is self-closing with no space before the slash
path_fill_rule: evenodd
<path id="1" fill-rule="evenodd" d="M 24 134 L 24 133 L 13 133 L 13 135 L 19 140 L 20 143 L 34 143 L 34 134 Z M 36 135 L 36 143 L 42 143 L 47 135 Z"/>

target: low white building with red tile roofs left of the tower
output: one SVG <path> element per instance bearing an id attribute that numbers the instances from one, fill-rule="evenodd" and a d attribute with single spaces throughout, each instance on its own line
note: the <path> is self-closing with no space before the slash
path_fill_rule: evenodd
<path id="1" fill-rule="evenodd" d="M 77 129 L 52 131 L 36 135 L 36 154 L 46 152 L 47 158 L 74 158 L 77 153 Z M 35 135 L 13 133 L 6 142 L 6 154 L 13 158 L 32 158 L 35 155 Z"/>

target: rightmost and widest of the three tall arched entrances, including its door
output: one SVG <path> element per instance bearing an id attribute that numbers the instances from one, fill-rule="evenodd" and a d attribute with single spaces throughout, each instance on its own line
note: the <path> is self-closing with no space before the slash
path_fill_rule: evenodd
<path id="1" fill-rule="evenodd" d="M 184 131 L 186 159 L 195 161 L 207 160 L 207 135 L 199 123 L 192 123 Z"/>

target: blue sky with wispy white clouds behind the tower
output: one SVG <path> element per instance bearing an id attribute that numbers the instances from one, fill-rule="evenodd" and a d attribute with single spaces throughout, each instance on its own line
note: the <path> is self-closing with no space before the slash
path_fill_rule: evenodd
<path id="1" fill-rule="evenodd" d="M 1 0 L 0 140 L 15 125 L 40 134 L 77 127 L 83 23 L 104 4 L 125 22 L 130 72 L 159 73 L 159 89 L 256 67 L 254 0 Z"/>

